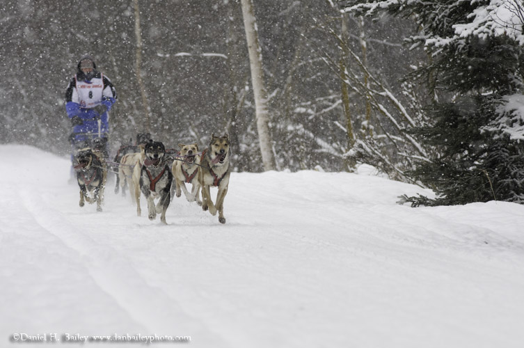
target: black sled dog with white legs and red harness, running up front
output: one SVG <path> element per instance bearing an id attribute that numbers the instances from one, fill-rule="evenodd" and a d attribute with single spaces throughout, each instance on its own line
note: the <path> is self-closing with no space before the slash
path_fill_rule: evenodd
<path id="1" fill-rule="evenodd" d="M 140 171 L 140 189 L 148 200 L 148 216 L 154 220 L 157 214 L 160 221 L 166 223 L 166 210 L 170 203 L 173 174 L 168 166 L 166 148 L 160 141 L 150 141 L 144 148 L 145 159 Z M 136 201 L 137 214 L 140 216 L 140 196 Z M 159 198 L 157 205 L 154 199 Z"/>

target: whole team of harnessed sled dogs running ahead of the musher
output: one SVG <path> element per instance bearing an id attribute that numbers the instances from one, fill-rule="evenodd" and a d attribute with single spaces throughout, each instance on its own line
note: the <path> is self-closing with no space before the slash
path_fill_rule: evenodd
<path id="1" fill-rule="evenodd" d="M 178 144 L 180 151 L 171 154 L 166 151 L 164 143 L 141 139 L 141 134 L 137 136 L 137 143 L 138 152 L 120 154 L 120 150 L 125 152 L 123 145 L 118 151 L 115 159 L 118 167 L 115 193 L 121 188 L 122 194 L 125 194 L 127 184 L 136 203 L 138 216 L 141 216 L 140 198 L 143 194 L 148 203 L 149 219 L 154 220 L 160 214 L 160 221 L 166 223 L 166 210 L 173 192 L 177 197 L 184 192 L 189 202 L 196 201 L 212 215 L 219 212 L 219 221 L 225 223 L 223 203 L 228 193 L 231 171 L 228 134 L 212 134 L 208 147 L 200 153 L 197 144 Z M 84 206 L 85 201 L 90 204 L 96 202 L 97 211 L 101 212 L 108 166 L 103 152 L 97 150 L 97 139 L 93 140 L 92 148 L 78 150 L 74 159 L 74 170 L 80 187 L 80 207 Z M 186 189 L 186 184 L 192 185 L 191 192 Z M 211 198 L 210 187 L 218 188 L 215 203 Z"/>

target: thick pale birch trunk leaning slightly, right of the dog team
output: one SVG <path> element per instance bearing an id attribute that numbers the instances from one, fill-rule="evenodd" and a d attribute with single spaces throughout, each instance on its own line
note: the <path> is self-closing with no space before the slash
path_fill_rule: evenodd
<path id="1" fill-rule="evenodd" d="M 269 112 L 267 107 L 267 90 L 264 86 L 262 72 L 262 53 L 258 41 L 257 23 L 253 0 L 241 0 L 242 14 L 244 15 L 244 29 L 248 44 L 249 63 L 251 66 L 251 83 L 255 96 L 255 117 L 257 120 L 258 139 L 264 171 L 272 171 L 275 166 L 273 151 L 271 150 L 271 136 L 269 134 Z"/>

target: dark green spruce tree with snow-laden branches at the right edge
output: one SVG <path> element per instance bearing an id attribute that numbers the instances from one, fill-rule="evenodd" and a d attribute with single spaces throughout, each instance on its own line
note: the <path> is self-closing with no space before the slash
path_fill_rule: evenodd
<path id="1" fill-rule="evenodd" d="M 524 35 L 511 4 L 344 1 L 351 13 L 413 17 L 420 32 L 406 40 L 431 54 L 431 63 L 417 73 L 434 86 L 435 102 L 426 108 L 432 122 L 413 133 L 438 155 L 421 161 L 411 175 L 438 196 L 404 197 L 412 205 L 524 203 Z"/>

